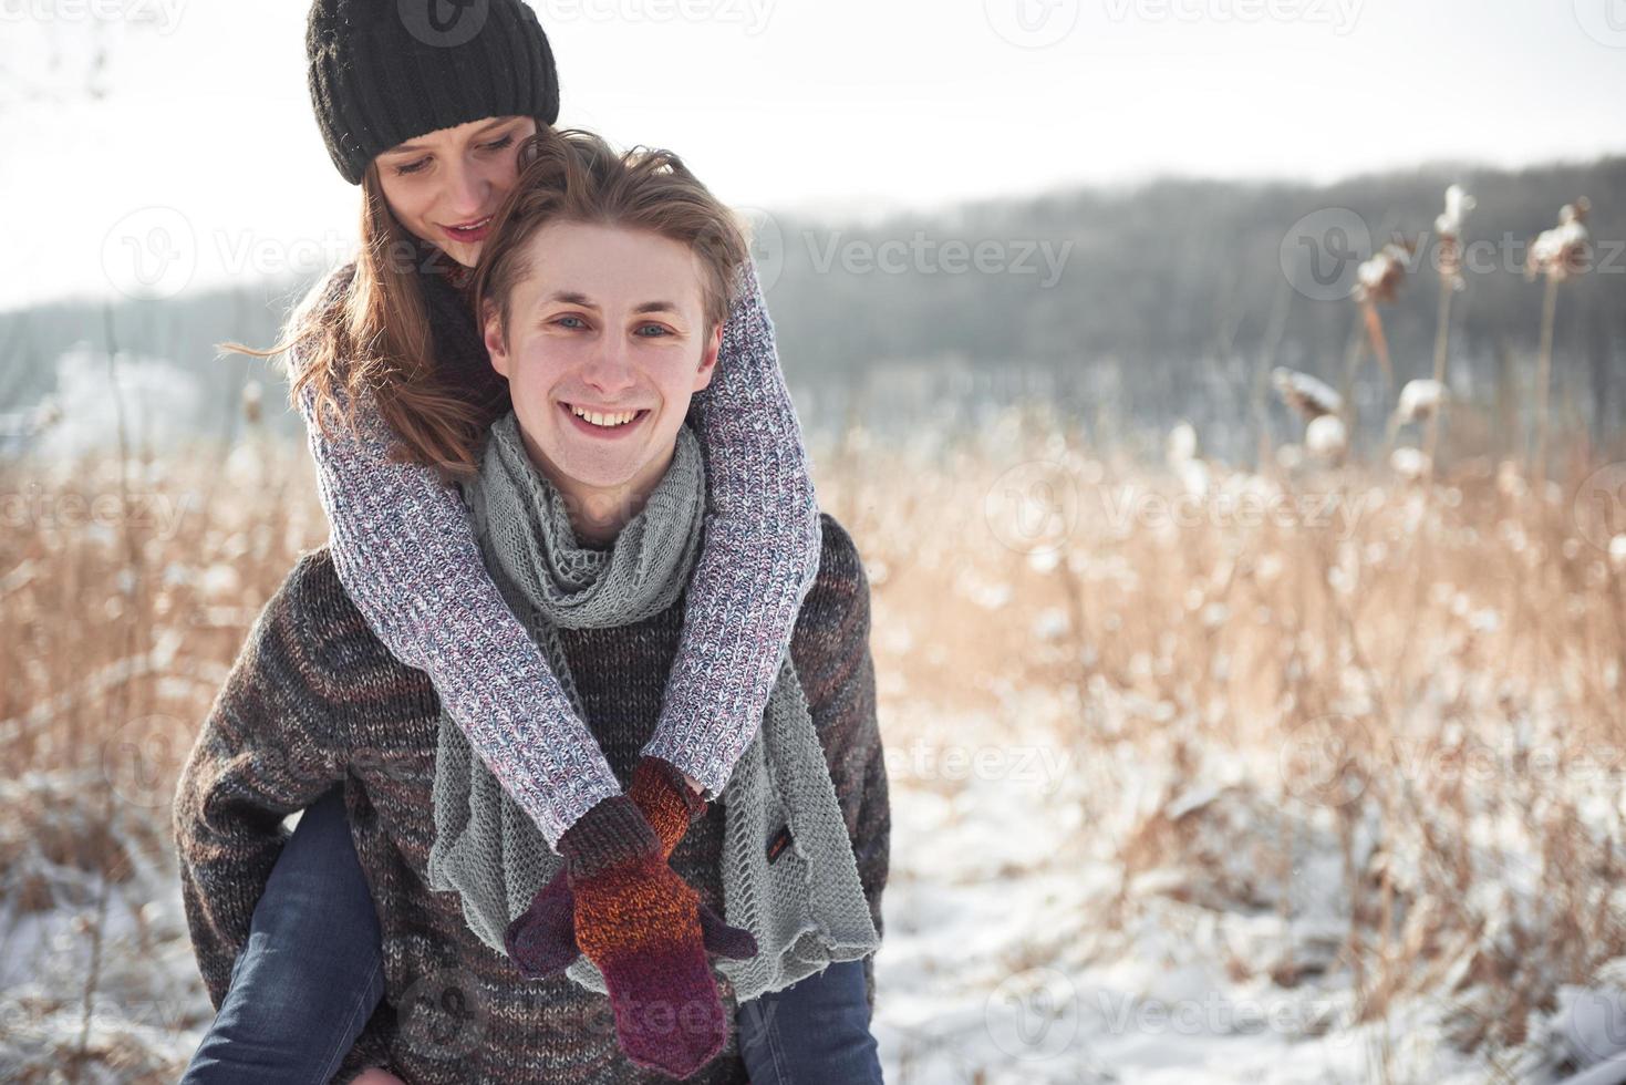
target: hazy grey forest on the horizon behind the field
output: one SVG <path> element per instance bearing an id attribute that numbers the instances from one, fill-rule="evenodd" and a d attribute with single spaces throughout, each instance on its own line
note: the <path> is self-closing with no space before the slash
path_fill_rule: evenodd
<path id="1" fill-rule="evenodd" d="M 1322 377 L 1366 416 L 1382 418 L 1393 395 L 1371 368 L 1348 382 L 1358 307 L 1296 290 L 1283 254 L 1324 244 L 1324 259 L 1353 268 L 1384 241 L 1421 236 L 1416 273 L 1382 319 L 1395 382 L 1428 376 L 1439 290 L 1428 234 L 1452 182 L 1476 198 L 1463 244 L 1489 268 L 1470 260 L 1450 314 L 1447 386 L 1470 408 L 1462 425 L 1476 418 L 1480 441 L 1515 439 L 1543 293 L 1520 273 L 1524 255 L 1561 205 L 1585 195 L 1595 267 L 1559 296 L 1553 412 L 1564 429 L 1605 438 L 1626 412 L 1615 377 L 1626 343 L 1626 158 L 1519 171 L 1431 164 L 1330 185 L 1163 179 L 854 224 L 758 211 L 753 252 L 808 429 L 930 421 L 972 431 L 989 410 L 1042 399 L 1101 446 L 1154 452 L 1158 434 L 1184 418 L 1208 454 L 1247 464 L 1260 425 L 1275 441 L 1294 434 L 1280 405 L 1250 410 L 1272 366 Z M 1369 239 L 1294 236 L 1298 223 L 1340 208 Z M 153 434 L 231 439 L 244 386 L 278 387 L 276 376 L 263 361 L 218 356 L 215 343 L 273 343 L 307 281 L 0 312 L 0 449 L 26 446 L 26 420 L 52 397 L 70 423 L 91 423 L 70 444 L 94 441 L 99 412 L 60 400 L 94 390 L 94 359 L 109 343 L 163 400 Z M 65 358 L 78 363 L 78 381 L 63 379 Z M 296 431 L 293 416 L 273 426 Z"/>

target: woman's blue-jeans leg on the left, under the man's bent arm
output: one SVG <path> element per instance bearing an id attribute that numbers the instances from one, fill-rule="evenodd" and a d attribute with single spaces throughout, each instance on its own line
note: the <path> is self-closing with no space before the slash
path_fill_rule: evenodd
<path id="1" fill-rule="evenodd" d="M 382 997 L 379 919 L 338 784 L 276 857 L 182 1085 L 325 1085 Z"/>

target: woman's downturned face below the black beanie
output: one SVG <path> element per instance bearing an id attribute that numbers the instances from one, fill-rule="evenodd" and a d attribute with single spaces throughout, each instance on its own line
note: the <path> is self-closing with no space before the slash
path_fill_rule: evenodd
<path id="1" fill-rule="evenodd" d="M 384 200 L 420 241 L 473 267 L 535 133 L 533 117 L 486 117 L 392 146 L 376 159 Z"/>

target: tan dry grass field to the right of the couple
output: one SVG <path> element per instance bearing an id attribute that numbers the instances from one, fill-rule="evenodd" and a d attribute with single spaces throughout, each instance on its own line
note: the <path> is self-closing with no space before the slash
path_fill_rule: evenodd
<path id="1" fill-rule="evenodd" d="M 1233 958 L 1234 978 L 1346 976 L 1356 1022 L 1437 1000 L 1452 1043 L 1493 1067 L 1540 1039 L 1528 1025 L 1561 984 L 1626 953 L 1626 582 L 1597 545 L 1623 524 L 1572 506 L 1587 467 L 1540 495 L 1483 460 L 1433 486 L 1216 468 L 1169 522 L 1182 480 L 1088 451 L 1042 412 L 946 470 L 862 460 L 821 495 L 885 571 L 886 719 L 922 716 L 925 696 L 1015 727 L 1000 690 L 1049 690 L 1075 765 L 1109 766 L 1073 794 L 1081 852 L 1106 851 L 1122 890 L 1080 932 L 1127 930 L 1158 896 L 1276 911 L 1281 943 Z M 984 521 L 1020 464 L 1031 506 L 1076 499 L 1055 550 L 1000 545 Z M 1124 517 L 1132 493 L 1143 514 Z M 1244 525 L 1226 493 L 1353 519 Z M 979 607 L 987 586 L 1008 602 Z M 1128 765 L 1163 800 L 1135 799 Z M 1343 929 L 1319 945 L 1293 919 L 1314 909 L 1307 859 L 1328 852 Z"/>

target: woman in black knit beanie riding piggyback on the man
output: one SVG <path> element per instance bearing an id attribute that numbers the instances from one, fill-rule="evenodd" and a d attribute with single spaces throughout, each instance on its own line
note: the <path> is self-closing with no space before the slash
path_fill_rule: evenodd
<path id="1" fill-rule="evenodd" d="M 504 791 L 556 844 L 620 786 L 491 584 L 449 480 L 473 468 L 462 451 L 468 434 L 507 408 L 460 285 L 514 184 L 519 145 L 556 119 L 558 81 L 546 37 L 522 3 L 493 0 L 478 26 L 452 28 L 418 24 L 408 8 L 319 0 L 311 13 L 312 99 L 335 164 L 363 187 L 363 255 L 340 306 L 296 317 L 294 397 L 311 425 L 346 590 L 395 656 L 429 673 Z M 475 8 L 457 11 L 473 18 Z M 423 262 L 446 273 L 423 275 Z M 728 324 L 735 348 L 725 345 L 696 412 L 714 506 L 706 550 L 660 726 L 644 750 L 650 765 L 681 769 L 701 804 L 722 791 L 761 719 L 820 553 L 805 452 L 748 265 Z M 740 425 L 746 407 L 751 421 Z M 330 425 L 335 408 L 341 426 Z M 724 673 L 730 682 L 712 678 Z M 366 888 L 343 805 L 330 794 L 302 815 L 278 859 L 187 1080 L 332 1074 L 380 991 Z M 515 927 L 533 913 L 543 914 L 533 908 Z M 527 930 L 511 935 L 522 940 Z M 774 1064 L 787 1062 L 797 1080 L 824 1080 L 820 1059 L 833 1051 L 846 1054 L 828 1067 L 829 1080 L 878 1080 L 873 1039 L 787 1046 L 816 1036 L 792 1026 L 797 1013 L 850 1020 L 839 1007 L 865 997 L 865 970 L 852 965 L 759 1000 L 777 1005 L 741 1007 L 741 1051 L 766 1059 L 753 1080 L 779 1080 Z M 280 1013 L 260 1012 L 268 994 Z M 774 1036 L 751 1043 L 753 1028 Z"/>

